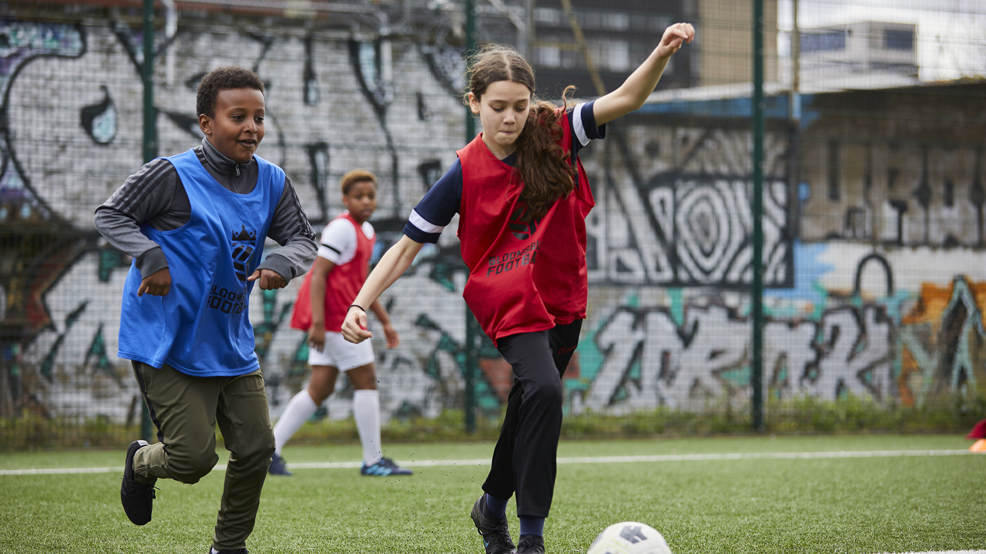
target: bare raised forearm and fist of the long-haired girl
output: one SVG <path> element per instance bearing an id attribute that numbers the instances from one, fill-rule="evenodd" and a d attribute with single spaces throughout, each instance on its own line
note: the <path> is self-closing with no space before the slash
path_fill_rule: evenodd
<path id="1" fill-rule="evenodd" d="M 695 28 L 690 23 L 676 23 L 665 30 L 661 43 L 651 52 L 626 81 L 615 91 L 599 97 L 593 103 L 596 124 L 601 125 L 640 109 L 658 86 L 661 74 L 668 66 L 671 55 L 685 42 L 695 37 Z"/>

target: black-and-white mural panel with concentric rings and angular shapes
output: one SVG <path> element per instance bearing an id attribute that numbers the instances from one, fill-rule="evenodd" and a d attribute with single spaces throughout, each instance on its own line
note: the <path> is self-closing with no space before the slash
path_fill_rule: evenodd
<path id="1" fill-rule="evenodd" d="M 753 225 L 749 133 L 658 129 L 612 128 L 612 144 L 606 144 L 611 155 L 604 163 L 588 157 L 597 199 L 587 221 L 590 281 L 747 287 Z M 662 146 L 682 142 L 685 153 Z M 784 145 L 771 146 L 763 195 L 764 283 L 780 287 L 790 285 L 793 275 L 793 234 Z"/>

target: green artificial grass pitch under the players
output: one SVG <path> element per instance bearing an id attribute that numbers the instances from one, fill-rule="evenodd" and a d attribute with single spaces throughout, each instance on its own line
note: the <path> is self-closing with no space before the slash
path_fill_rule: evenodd
<path id="1" fill-rule="evenodd" d="M 960 436 L 729 437 L 563 442 L 559 456 L 849 450 L 959 450 Z M 493 445 L 395 444 L 398 461 L 487 459 Z M 221 463 L 225 450 L 220 450 Z M 289 462 L 357 461 L 358 446 L 291 447 Z M 0 469 L 115 467 L 123 451 L 0 453 Z M 268 477 L 253 554 L 482 553 L 468 512 L 488 467 L 356 469 Z M 223 483 L 159 481 L 154 519 L 119 506 L 119 474 L 0 475 L 0 553 L 204 553 Z M 508 508 L 517 536 L 514 503 Z M 911 552 L 986 548 L 986 455 L 724 459 L 558 466 L 549 554 L 586 552 L 622 520 L 664 533 L 675 554 Z"/>

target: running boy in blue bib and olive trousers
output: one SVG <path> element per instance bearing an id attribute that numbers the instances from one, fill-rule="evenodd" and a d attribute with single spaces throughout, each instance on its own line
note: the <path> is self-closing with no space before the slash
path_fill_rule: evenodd
<path id="1" fill-rule="evenodd" d="M 246 554 L 274 451 L 249 294 L 305 274 L 317 245 L 284 171 L 253 155 L 264 133 L 256 74 L 209 73 L 196 110 L 202 145 L 146 164 L 96 211 L 97 229 L 134 258 L 118 356 L 132 361 L 159 440 L 130 445 L 120 501 L 149 522 L 159 478 L 195 483 L 219 461 L 218 423 L 230 460 L 211 552 Z M 281 247 L 263 259 L 267 237 Z"/>

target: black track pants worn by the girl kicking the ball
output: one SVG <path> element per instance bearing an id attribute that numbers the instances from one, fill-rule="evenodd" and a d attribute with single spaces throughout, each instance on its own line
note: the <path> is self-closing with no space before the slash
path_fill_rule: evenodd
<path id="1" fill-rule="evenodd" d="M 551 509 L 561 433 L 561 376 L 579 344 L 581 329 L 582 319 L 576 319 L 497 341 L 514 369 L 514 386 L 483 491 L 500 499 L 516 491 L 518 516 L 547 518 Z"/>

